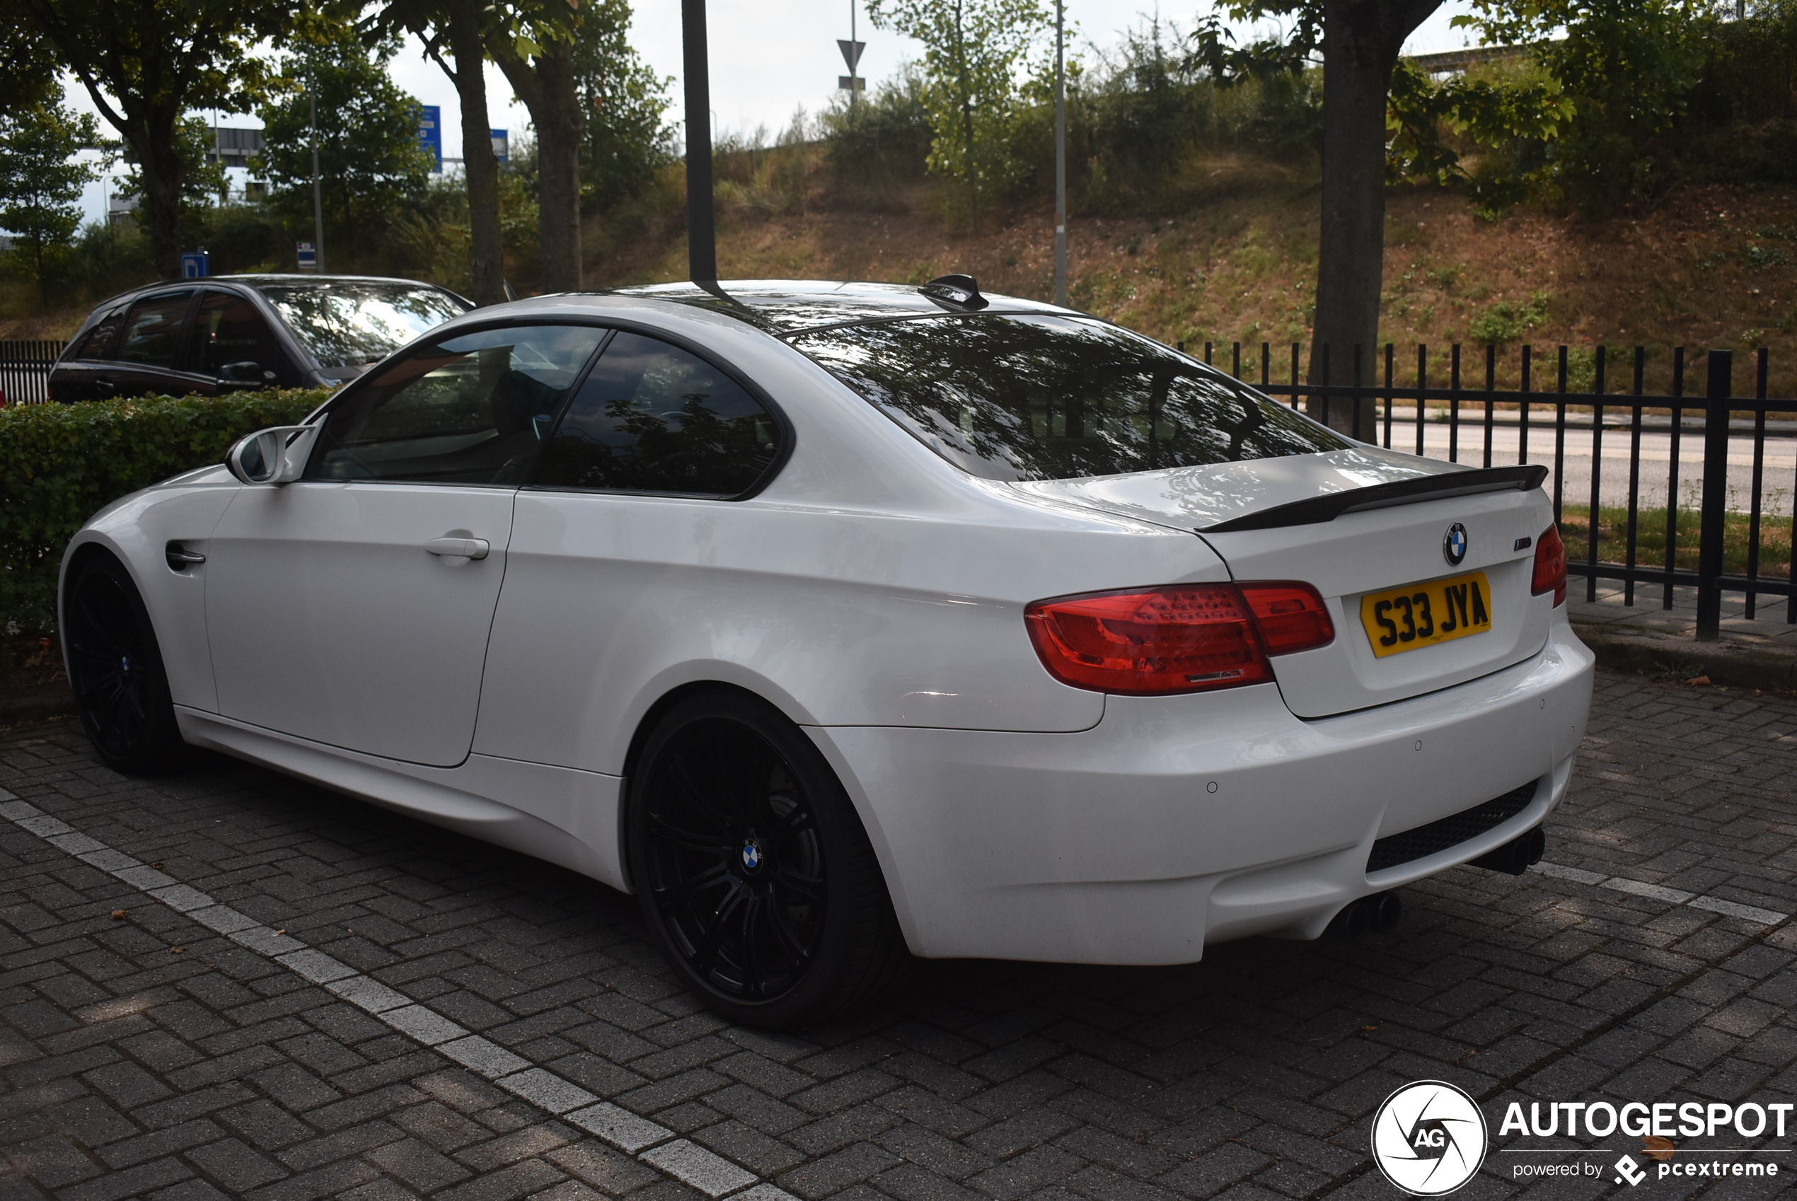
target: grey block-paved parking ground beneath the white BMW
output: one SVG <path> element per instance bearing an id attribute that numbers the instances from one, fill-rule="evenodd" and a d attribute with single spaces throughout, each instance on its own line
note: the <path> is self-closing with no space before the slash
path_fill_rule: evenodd
<path id="1" fill-rule="evenodd" d="M 600 885 L 270 772 L 126 781 L 50 723 L 0 732 L 0 788 L 624 1113 L 557 1118 L 40 833 L 95 858 L 81 838 L 0 820 L 5 1201 L 704 1196 L 683 1174 L 757 1201 L 1398 1197 L 1368 1131 L 1420 1079 L 1492 1122 L 1456 1196 L 1587 1197 L 1633 1192 L 1619 1153 L 1655 1169 L 1639 1140 L 1500 1135 L 1508 1102 L 1797 1100 L 1797 928 L 1759 912 L 1797 912 L 1797 704 L 1774 697 L 1603 677 L 1556 874 L 1454 871 L 1403 890 L 1391 935 L 925 964 L 803 1036 L 697 1011 Z M 618 1133 L 645 1118 L 649 1144 Z M 1677 1140 L 1675 1163 L 1757 1147 L 1784 1179 L 1641 1192 L 1772 1196 L 1792 1126 Z M 1518 1183 L 1524 1162 L 1601 1174 Z"/>

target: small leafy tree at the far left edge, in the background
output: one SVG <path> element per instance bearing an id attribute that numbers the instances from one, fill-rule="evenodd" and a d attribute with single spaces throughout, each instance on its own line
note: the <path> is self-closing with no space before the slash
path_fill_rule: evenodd
<path id="1" fill-rule="evenodd" d="M 0 228 L 31 255 L 43 302 L 45 251 L 72 242 L 81 228 L 81 188 L 99 178 L 99 167 L 77 153 L 99 144 L 95 120 L 63 108 L 54 83 L 38 104 L 0 113 Z"/>

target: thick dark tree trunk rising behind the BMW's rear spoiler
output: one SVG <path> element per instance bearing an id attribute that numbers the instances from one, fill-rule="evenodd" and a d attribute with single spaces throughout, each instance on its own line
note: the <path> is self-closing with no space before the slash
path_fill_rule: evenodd
<path id="1" fill-rule="evenodd" d="M 1312 384 L 1364 386 L 1375 379 L 1385 264 L 1385 95 L 1403 39 L 1439 2 L 1324 0 L 1323 228 Z M 1373 438 L 1371 399 L 1355 404 L 1350 397 L 1312 397 L 1308 408 L 1314 418 L 1344 434 Z"/>

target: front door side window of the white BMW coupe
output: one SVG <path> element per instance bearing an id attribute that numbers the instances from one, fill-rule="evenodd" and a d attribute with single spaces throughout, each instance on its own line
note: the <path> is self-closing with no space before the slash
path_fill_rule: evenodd
<path id="1" fill-rule="evenodd" d="M 331 409 L 305 476 L 519 483 L 604 336 L 523 325 L 426 343 Z"/>

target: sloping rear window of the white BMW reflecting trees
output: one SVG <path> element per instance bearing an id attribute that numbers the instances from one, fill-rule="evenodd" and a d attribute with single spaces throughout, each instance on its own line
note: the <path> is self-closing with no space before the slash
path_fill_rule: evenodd
<path id="1" fill-rule="evenodd" d="M 987 479 L 1120 476 L 1353 445 L 1222 372 L 1096 320 L 870 321 L 798 334 L 792 345 Z"/>

